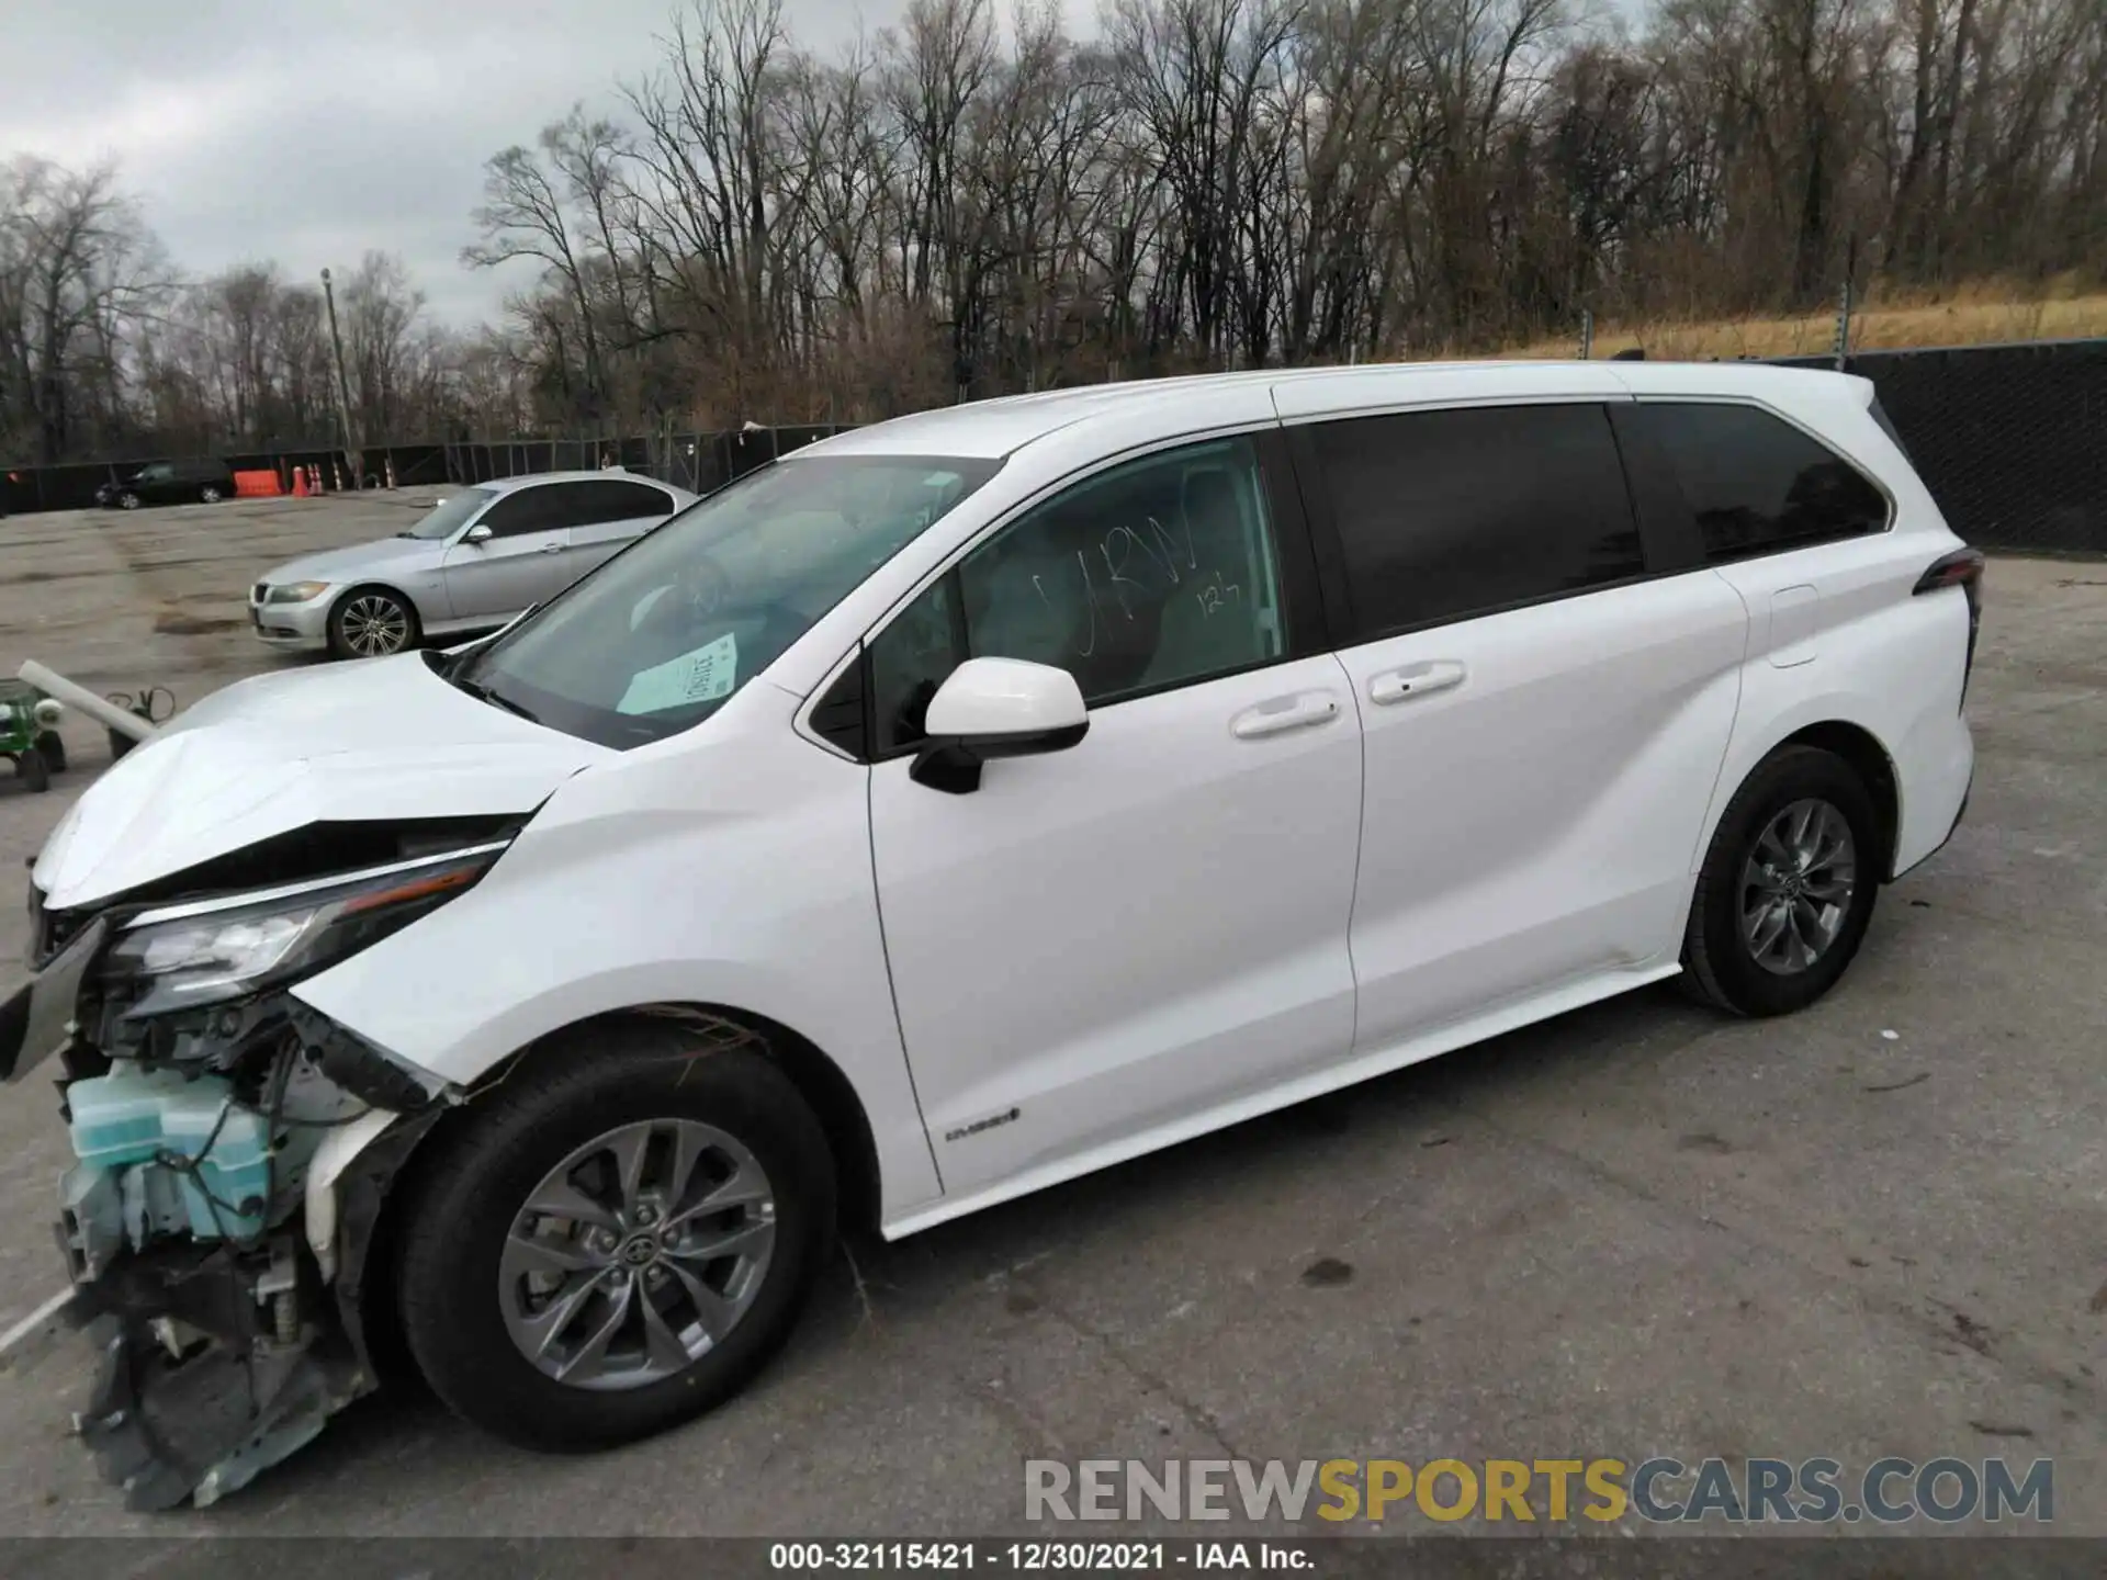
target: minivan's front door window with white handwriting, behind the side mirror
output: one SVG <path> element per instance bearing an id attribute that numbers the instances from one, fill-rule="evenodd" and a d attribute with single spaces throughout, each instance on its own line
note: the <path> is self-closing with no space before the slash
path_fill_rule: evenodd
<path id="1" fill-rule="evenodd" d="M 908 605 L 870 645 L 872 746 L 919 742 L 965 657 L 1060 666 L 1098 708 L 1285 651 L 1258 455 L 1245 438 L 1193 445 L 1032 508 Z"/>

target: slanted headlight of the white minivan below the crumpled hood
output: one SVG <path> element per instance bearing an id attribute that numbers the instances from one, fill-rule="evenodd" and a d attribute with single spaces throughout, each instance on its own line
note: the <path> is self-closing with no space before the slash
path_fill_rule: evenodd
<path id="1" fill-rule="evenodd" d="M 480 878 L 504 845 L 396 862 L 341 878 L 158 906 L 124 923 L 103 956 L 129 1013 L 240 999 L 356 954 Z"/>

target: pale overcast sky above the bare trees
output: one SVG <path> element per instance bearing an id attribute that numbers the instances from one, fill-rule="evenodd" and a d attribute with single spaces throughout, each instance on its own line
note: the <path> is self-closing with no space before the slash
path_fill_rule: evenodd
<path id="1" fill-rule="evenodd" d="M 400 253 L 447 322 L 497 314 L 516 276 L 459 253 L 483 162 L 573 101 L 613 110 L 678 0 L 13 0 L 0 160 L 101 156 L 192 276 L 287 276 Z M 786 0 L 830 48 L 898 0 Z M 514 265 L 527 268 L 527 265 Z"/>

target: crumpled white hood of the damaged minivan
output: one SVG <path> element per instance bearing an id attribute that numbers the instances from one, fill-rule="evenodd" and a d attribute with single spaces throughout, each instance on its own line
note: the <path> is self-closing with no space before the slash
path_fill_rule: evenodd
<path id="1" fill-rule="evenodd" d="M 215 691 L 112 763 L 34 883 L 72 910 L 308 824 L 525 813 L 615 756 L 476 702 L 424 653 L 284 670 Z"/>

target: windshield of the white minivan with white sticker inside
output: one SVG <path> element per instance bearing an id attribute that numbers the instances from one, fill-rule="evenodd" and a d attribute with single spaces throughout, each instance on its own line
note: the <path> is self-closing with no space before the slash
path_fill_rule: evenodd
<path id="1" fill-rule="evenodd" d="M 716 712 L 999 466 L 777 461 L 636 539 L 451 678 L 603 746 L 664 739 Z"/>

